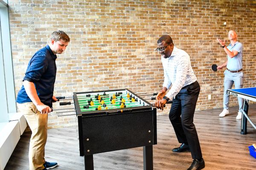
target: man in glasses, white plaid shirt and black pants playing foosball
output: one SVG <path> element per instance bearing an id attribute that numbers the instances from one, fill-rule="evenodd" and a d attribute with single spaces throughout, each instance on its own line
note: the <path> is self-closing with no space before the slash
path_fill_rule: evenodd
<path id="1" fill-rule="evenodd" d="M 174 148 L 172 151 L 191 151 L 194 161 L 188 170 L 201 170 L 205 164 L 193 123 L 200 85 L 192 70 L 189 55 L 176 48 L 169 35 L 160 37 L 157 41 L 157 51 L 162 55 L 164 83 L 163 89 L 157 94 L 155 106 L 163 110 L 163 105 L 172 99 L 169 119 L 178 142 L 181 143 L 180 147 Z M 166 94 L 171 85 L 171 89 Z"/>

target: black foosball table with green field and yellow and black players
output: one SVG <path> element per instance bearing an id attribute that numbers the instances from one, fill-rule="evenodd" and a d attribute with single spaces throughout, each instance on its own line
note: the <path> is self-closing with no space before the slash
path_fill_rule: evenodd
<path id="1" fill-rule="evenodd" d="M 153 170 L 152 146 L 157 144 L 154 105 L 128 89 L 74 92 L 73 101 L 60 105 L 75 106 L 71 109 L 76 112 L 79 150 L 80 156 L 84 156 L 85 170 L 94 169 L 93 154 L 134 147 L 143 147 L 144 170 Z M 71 114 L 59 116 L 65 115 Z"/>

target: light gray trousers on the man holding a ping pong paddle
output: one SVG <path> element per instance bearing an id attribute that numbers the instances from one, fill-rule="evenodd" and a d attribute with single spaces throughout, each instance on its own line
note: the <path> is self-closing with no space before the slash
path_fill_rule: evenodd
<path id="1" fill-rule="evenodd" d="M 227 90 L 231 89 L 233 84 L 235 84 L 235 88 L 243 88 L 244 75 L 243 75 L 243 71 L 240 71 L 239 73 L 231 73 L 228 70 L 226 70 L 224 74 L 225 74 L 225 78 L 224 78 L 223 108 L 228 109 L 230 95 L 227 94 Z M 244 99 L 240 97 L 237 97 L 237 98 L 239 103 L 239 112 L 242 113 Z"/>

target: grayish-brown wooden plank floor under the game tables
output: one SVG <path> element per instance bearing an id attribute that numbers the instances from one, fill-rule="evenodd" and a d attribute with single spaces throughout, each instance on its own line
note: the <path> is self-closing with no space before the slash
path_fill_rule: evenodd
<path id="1" fill-rule="evenodd" d="M 236 120 L 238 107 L 220 118 L 223 109 L 196 111 L 194 123 L 205 160 L 204 170 L 256 170 L 256 159 L 248 146 L 256 143 L 256 130 L 248 122 L 247 135 L 241 135 L 241 120 Z M 249 117 L 256 124 L 256 104 L 249 105 Z M 29 170 L 30 132 L 21 136 L 5 170 Z M 169 115 L 157 116 L 157 145 L 153 146 L 154 170 L 186 170 L 192 163 L 189 152 L 174 153 L 178 147 Z M 99 153 L 94 157 L 95 170 L 143 170 L 142 147 Z M 58 162 L 55 170 L 84 170 L 79 156 L 75 127 L 48 130 L 46 160 Z"/>

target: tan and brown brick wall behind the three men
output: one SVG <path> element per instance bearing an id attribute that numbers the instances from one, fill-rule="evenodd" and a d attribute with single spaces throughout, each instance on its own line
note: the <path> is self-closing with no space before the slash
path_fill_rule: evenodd
<path id="1" fill-rule="evenodd" d="M 56 30 L 70 36 L 58 55 L 55 96 L 74 91 L 129 88 L 157 92 L 163 67 L 155 50 L 163 34 L 191 57 L 201 85 L 197 110 L 222 107 L 224 70 L 213 72 L 227 55 L 217 38 L 233 29 L 244 45 L 244 87 L 256 86 L 255 0 L 9 0 L 15 91 L 20 90 L 32 55 Z M 227 22 L 227 25 L 224 25 Z M 227 41 L 229 44 L 230 41 Z M 208 100 L 208 95 L 212 99 Z M 238 105 L 231 97 L 230 106 Z M 67 107 L 67 106 L 66 106 Z M 54 105 L 54 108 L 60 108 Z M 170 105 L 158 114 L 167 114 Z M 49 128 L 74 125 L 73 116 L 49 114 Z"/>

